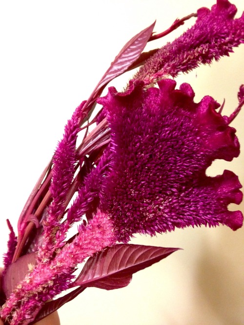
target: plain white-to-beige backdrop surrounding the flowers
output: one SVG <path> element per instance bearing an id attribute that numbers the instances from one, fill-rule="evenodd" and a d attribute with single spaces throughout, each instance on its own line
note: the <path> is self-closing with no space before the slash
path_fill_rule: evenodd
<path id="1" fill-rule="evenodd" d="M 52 156 L 63 126 L 86 99 L 124 43 L 157 19 L 157 32 L 214 0 L 0 1 L 0 253 L 9 218 L 15 229 L 25 200 Z M 243 0 L 235 0 L 238 16 Z M 194 19 L 167 38 L 182 33 Z M 152 44 L 153 46 L 154 44 Z M 224 113 L 237 106 L 244 83 L 244 46 L 230 57 L 177 78 L 191 83 L 196 100 L 225 98 Z M 129 76 L 113 82 L 122 88 Z M 244 112 L 233 126 L 244 147 Z M 215 162 L 244 184 L 244 155 Z M 231 209 L 237 209 L 232 206 Z M 241 205 L 244 210 L 244 206 Z M 60 310 L 61 325 L 244 324 L 244 229 L 184 229 L 134 243 L 181 247 L 133 276 L 123 289 L 86 289 Z"/>

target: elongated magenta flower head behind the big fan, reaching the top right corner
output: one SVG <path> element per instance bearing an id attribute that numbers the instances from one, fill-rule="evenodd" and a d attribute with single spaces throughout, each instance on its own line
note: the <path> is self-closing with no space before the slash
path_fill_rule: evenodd
<path id="1" fill-rule="evenodd" d="M 150 57 L 135 79 L 150 84 L 228 56 L 233 47 L 244 42 L 244 14 L 234 19 L 236 12 L 228 0 L 217 0 L 211 10 L 199 9 L 195 25 Z"/>

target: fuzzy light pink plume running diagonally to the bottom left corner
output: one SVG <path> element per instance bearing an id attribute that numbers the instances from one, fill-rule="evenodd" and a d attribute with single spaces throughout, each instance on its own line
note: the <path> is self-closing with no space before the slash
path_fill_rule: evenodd
<path id="1" fill-rule="evenodd" d="M 74 278 L 72 273 L 79 263 L 115 243 L 111 222 L 106 214 L 98 211 L 86 227 L 79 227 L 76 238 L 51 262 L 39 263 L 25 277 L 3 306 L 1 317 L 7 317 L 14 309 L 11 325 L 32 320 L 37 306 L 69 288 Z"/>

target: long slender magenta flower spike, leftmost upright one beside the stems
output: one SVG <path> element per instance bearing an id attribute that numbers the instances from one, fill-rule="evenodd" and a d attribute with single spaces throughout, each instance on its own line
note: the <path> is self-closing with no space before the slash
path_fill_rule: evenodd
<path id="1" fill-rule="evenodd" d="M 53 158 L 53 174 L 50 186 L 52 203 L 48 208 L 47 218 L 43 221 L 43 242 L 39 250 L 39 258 L 47 258 L 59 247 L 54 243 L 53 229 L 60 224 L 62 213 L 65 210 L 65 201 L 69 192 L 74 174 L 75 164 L 78 161 L 76 153 L 77 134 L 80 131 L 80 119 L 85 101 L 77 107 L 64 129 L 63 138 L 57 146 Z"/>

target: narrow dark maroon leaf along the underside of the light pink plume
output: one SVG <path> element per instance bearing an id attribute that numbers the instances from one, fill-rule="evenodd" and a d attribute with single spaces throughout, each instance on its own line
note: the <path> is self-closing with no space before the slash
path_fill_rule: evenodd
<path id="1" fill-rule="evenodd" d="M 63 297 L 45 303 L 44 306 L 41 307 L 41 310 L 39 311 L 37 316 L 35 317 L 35 321 L 31 322 L 30 324 L 39 322 L 41 321 L 41 319 L 52 314 L 54 311 L 58 310 L 62 305 L 76 298 L 82 291 L 84 291 L 84 289 L 85 287 L 78 287 L 77 289 L 67 293 Z"/>

